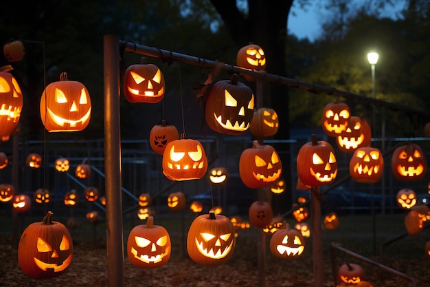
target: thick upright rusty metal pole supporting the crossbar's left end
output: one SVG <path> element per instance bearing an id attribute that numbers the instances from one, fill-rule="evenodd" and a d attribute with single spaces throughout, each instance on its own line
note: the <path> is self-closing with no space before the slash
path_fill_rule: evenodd
<path id="1" fill-rule="evenodd" d="M 105 35 L 104 47 L 104 173 L 106 174 L 106 251 L 108 286 L 124 286 L 122 235 L 120 41 Z"/>

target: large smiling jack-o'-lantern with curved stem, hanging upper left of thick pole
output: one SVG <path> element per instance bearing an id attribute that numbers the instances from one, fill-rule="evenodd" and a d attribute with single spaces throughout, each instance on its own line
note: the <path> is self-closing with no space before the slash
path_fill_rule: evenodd
<path id="1" fill-rule="evenodd" d="M 47 131 L 82 131 L 91 118 L 91 98 L 82 83 L 68 81 L 67 73 L 61 73 L 60 81 L 43 91 L 40 110 Z"/>

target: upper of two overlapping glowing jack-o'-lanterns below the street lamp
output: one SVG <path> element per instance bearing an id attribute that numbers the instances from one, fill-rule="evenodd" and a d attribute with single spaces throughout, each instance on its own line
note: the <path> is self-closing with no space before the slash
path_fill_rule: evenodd
<path id="1" fill-rule="evenodd" d="M 321 125 L 328 136 L 339 136 L 350 123 L 351 111 L 346 103 L 328 103 L 321 116 Z"/>

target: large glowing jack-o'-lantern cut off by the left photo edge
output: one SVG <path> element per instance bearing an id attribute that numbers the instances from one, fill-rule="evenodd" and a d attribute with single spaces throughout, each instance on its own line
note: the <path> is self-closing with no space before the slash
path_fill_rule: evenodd
<path id="1" fill-rule="evenodd" d="M 23 93 L 8 72 L 0 72 L 0 136 L 8 136 L 16 127 L 23 108 Z"/>

